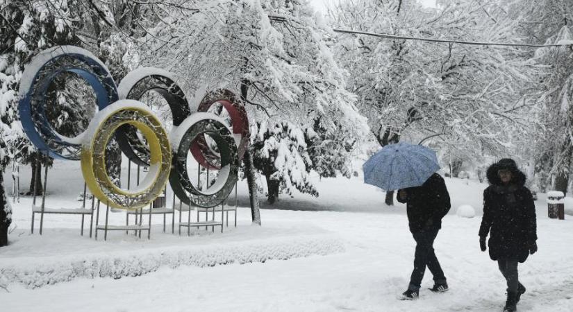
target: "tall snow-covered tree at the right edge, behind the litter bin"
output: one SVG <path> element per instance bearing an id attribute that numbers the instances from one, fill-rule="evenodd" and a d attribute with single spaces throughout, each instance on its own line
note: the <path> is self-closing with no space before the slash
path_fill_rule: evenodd
<path id="1" fill-rule="evenodd" d="M 514 3 L 520 32 L 528 40 L 545 44 L 573 43 L 573 1 L 536 0 L 527 6 Z M 531 52 L 542 66 L 538 76 L 542 128 L 531 132 L 529 149 L 538 188 L 567 193 L 572 168 L 573 142 L 573 49 L 572 46 L 543 47 Z"/>

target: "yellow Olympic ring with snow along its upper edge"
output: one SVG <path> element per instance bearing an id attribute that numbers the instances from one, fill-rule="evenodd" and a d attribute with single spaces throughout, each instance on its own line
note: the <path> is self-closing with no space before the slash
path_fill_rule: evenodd
<path id="1" fill-rule="evenodd" d="M 115 130 L 131 124 L 149 144 L 149 172 L 133 190 L 117 187 L 106 171 L 106 146 Z M 172 153 L 167 132 L 147 105 L 134 100 L 119 100 L 94 116 L 86 130 L 81 148 L 81 169 L 94 196 L 110 207 L 138 209 L 149 205 L 165 188 L 171 170 Z"/>

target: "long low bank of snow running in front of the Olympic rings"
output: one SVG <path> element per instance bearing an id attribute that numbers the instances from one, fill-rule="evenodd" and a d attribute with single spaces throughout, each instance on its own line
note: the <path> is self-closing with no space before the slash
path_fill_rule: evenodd
<path id="1" fill-rule="evenodd" d="M 235 235 L 236 239 L 236 235 Z M 95 242 L 93 242 L 95 243 Z M 105 243 L 104 243 L 105 244 Z M 185 244 L 128 250 L 82 252 L 49 257 L 0 257 L 0 286 L 23 284 L 38 288 L 78 278 L 136 277 L 160 268 L 287 260 L 344 252 L 344 243 L 333 234 L 301 234 L 269 239 L 224 243 Z"/>

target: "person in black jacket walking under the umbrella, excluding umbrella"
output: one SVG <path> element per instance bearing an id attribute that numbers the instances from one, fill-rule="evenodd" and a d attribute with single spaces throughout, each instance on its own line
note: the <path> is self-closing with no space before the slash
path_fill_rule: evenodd
<path id="1" fill-rule="evenodd" d="M 426 266 L 434 280 L 434 286 L 430 290 L 447 291 L 444 271 L 433 250 L 435 236 L 438 236 L 438 231 L 442 228 L 442 218 L 451 206 L 444 179 L 438 173 L 433 173 L 420 187 L 400 189 L 397 200 L 406 203 L 410 232 L 416 241 L 414 270 L 410 276 L 408 289 L 400 299 L 413 300 L 418 297 Z"/>

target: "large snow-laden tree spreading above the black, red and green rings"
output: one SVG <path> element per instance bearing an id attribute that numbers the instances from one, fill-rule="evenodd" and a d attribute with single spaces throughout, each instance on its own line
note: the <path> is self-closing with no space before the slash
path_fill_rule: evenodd
<path id="1" fill-rule="evenodd" d="M 269 129 L 290 122 L 303 130 L 318 120 L 324 132 L 342 128 L 347 137 L 332 137 L 340 144 L 365 129 L 331 53 L 333 33 L 306 1 L 175 1 L 153 6 L 153 12 L 159 22 L 141 21 L 148 35 L 130 52 L 139 64 L 174 71 L 190 89 L 234 90 L 247 103 L 251 123 L 264 121 Z M 298 150 L 285 152 L 297 159 Z M 301 173 L 313 166 L 301 164 L 308 166 Z M 294 180 L 274 177 L 283 185 Z"/>

